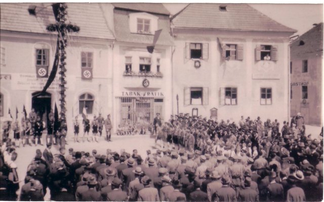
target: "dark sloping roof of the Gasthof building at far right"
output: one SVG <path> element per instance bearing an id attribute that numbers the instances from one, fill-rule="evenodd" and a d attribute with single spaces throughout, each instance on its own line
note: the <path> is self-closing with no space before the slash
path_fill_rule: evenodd
<path id="1" fill-rule="evenodd" d="M 305 32 L 290 47 L 292 57 L 323 51 L 323 23 L 319 23 Z"/>

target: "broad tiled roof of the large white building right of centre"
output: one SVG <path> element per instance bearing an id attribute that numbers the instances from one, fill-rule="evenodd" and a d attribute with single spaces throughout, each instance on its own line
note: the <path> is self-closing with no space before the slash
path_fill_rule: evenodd
<path id="1" fill-rule="evenodd" d="M 221 11 L 220 6 L 226 6 L 226 11 Z M 175 28 L 297 31 L 281 25 L 248 4 L 189 4 L 173 17 L 172 23 Z"/>

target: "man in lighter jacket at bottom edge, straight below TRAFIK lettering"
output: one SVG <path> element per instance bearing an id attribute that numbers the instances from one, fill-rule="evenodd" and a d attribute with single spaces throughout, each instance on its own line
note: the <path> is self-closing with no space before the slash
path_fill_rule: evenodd
<path id="1" fill-rule="evenodd" d="M 159 201 L 158 191 L 156 188 L 150 186 L 151 179 L 144 176 L 141 179 L 144 188 L 138 192 L 138 201 Z"/>

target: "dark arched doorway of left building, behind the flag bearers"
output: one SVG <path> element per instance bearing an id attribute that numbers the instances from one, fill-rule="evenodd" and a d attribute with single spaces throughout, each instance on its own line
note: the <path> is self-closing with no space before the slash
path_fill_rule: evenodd
<path id="1" fill-rule="evenodd" d="M 51 112 L 52 95 L 48 92 L 41 93 L 39 91 L 33 92 L 31 95 L 31 108 L 35 110 L 36 114 L 41 116 L 47 127 L 49 113 Z"/>

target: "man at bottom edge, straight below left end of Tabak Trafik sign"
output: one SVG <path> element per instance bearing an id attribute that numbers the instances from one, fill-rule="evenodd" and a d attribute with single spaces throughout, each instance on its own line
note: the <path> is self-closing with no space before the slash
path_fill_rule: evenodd
<path id="1" fill-rule="evenodd" d="M 121 180 L 119 178 L 114 178 L 111 182 L 111 189 L 109 193 L 107 193 L 107 198 L 103 198 L 106 201 L 127 201 L 128 196 L 127 192 L 120 189 Z"/>

